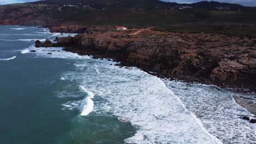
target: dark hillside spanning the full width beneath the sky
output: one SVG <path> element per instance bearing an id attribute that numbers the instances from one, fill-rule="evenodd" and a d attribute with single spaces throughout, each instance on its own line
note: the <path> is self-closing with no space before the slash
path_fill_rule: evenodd
<path id="1" fill-rule="evenodd" d="M 188 22 L 256 23 L 253 7 L 219 2 L 46 0 L 0 6 L 0 24 L 25 26 L 166 26 Z"/>

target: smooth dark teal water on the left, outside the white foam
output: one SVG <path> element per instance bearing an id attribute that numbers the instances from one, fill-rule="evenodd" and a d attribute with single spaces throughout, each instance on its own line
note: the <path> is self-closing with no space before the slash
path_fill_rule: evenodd
<path id="1" fill-rule="evenodd" d="M 103 139 L 106 143 L 122 143 L 135 133 L 131 124 L 115 117 L 85 118 L 79 110 L 62 110 L 67 101 L 85 97 L 83 92 L 74 97 L 57 95 L 73 84 L 61 82 L 60 76 L 74 69 L 75 59 L 21 53 L 33 45 L 34 41 L 28 39 L 53 39 L 52 35 L 42 28 L 0 27 L 0 58 L 16 56 L 0 61 L 0 143 L 94 143 Z"/>

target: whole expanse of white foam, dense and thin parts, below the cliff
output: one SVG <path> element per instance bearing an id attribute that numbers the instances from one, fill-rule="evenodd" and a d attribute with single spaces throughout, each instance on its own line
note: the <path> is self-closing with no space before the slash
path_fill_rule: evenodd
<path id="1" fill-rule="evenodd" d="M 82 111 L 81 115 L 92 110 L 96 115 L 113 113 L 119 121 L 136 127 L 136 134 L 126 143 L 254 142 L 255 125 L 240 119 L 251 113 L 237 106 L 228 92 L 216 86 L 169 80 L 163 83 L 136 68 L 114 64 L 84 59 L 74 64 L 74 71 L 62 76 L 88 86 L 85 92 L 90 89 L 97 95 L 94 101 L 88 94 L 82 102 L 71 102 L 80 105 L 74 107 Z M 104 73 L 99 75 L 97 69 Z"/>

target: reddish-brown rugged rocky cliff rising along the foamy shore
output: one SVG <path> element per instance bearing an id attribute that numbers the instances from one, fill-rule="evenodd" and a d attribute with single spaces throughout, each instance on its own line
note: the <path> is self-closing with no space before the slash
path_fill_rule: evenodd
<path id="1" fill-rule="evenodd" d="M 160 76 L 256 89 L 255 39 L 144 29 L 56 40 L 57 46 L 68 46 L 67 51 L 115 58 Z"/>

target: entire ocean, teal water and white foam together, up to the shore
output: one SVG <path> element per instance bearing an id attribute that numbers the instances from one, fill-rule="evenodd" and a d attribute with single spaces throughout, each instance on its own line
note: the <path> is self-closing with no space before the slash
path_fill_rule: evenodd
<path id="1" fill-rule="evenodd" d="M 33 46 L 67 35 L 0 26 L 0 143 L 255 143 L 255 94 Z"/>

